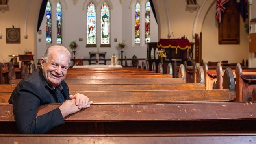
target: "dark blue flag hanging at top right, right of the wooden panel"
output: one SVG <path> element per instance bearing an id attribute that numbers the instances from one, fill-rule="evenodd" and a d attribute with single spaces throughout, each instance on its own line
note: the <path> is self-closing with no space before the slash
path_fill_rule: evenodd
<path id="1" fill-rule="evenodd" d="M 247 0 L 233 0 L 236 4 L 236 7 L 243 17 L 243 22 L 245 22 L 246 18 L 248 18 L 248 11 L 247 11 Z"/>

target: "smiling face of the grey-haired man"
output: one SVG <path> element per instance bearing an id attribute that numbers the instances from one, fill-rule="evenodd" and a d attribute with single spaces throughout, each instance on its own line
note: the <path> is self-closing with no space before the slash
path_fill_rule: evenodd
<path id="1" fill-rule="evenodd" d="M 51 50 L 46 62 L 41 58 L 41 68 L 46 81 L 52 87 L 56 87 L 67 75 L 69 55 L 57 50 Z"/>

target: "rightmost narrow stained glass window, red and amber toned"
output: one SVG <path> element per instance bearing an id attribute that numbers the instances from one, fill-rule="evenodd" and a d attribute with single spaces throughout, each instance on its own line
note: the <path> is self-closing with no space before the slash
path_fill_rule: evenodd
<path id="1" fill-rule="evenodd" d="M 145 42 L 150 42 L 150 2 L 146 2 L 146 13 L 145 13 Z"/>

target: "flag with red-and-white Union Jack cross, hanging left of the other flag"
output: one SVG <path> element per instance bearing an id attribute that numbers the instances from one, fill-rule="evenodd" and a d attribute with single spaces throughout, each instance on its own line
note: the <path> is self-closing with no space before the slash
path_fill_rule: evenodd
<path id="1" fill-rule="evenodd" d="M 219 23 L 221 23 L 221 17 L 223 17 L 228 1 L 229 0 L 216 0 L 216 18 Z"/>

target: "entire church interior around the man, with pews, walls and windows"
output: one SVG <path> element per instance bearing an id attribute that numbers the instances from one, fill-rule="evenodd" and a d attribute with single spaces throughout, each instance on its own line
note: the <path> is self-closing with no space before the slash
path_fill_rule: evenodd
<path id="1" fill-rule="evenodd" d="M 0 11 L 1 142 L 256 141 L 256 0 L 0 0 Z M 94 104 L 18 134 L 8 100 L 55 45 L 71 54 L 69 93 Z"/>

